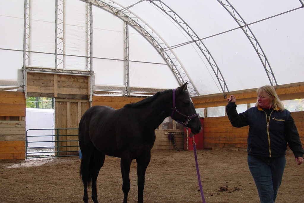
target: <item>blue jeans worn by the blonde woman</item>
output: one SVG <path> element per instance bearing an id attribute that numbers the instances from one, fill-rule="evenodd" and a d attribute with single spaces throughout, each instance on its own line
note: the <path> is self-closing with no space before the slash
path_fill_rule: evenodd
<path id="1" fill-rule="evenodd" d="M 282 182 L 285 156 L 259 159 L 248 155 L 247 161 L 261 203 L 274 203 Z"/>

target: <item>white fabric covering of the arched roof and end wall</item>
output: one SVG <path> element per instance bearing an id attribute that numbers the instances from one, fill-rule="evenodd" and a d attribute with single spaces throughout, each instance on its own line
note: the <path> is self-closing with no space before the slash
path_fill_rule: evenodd
<path id="1" fill-rule="evenodd" d="M 24 2 L 0 1 L 3 81 L 17 81 L 18 72 L 20 81 Z M 58 0 L 57 36 L 55 0 L 27 4 L 26 66 L 55 68 L 58 37 L 64 56 L 57 68 L 64 71 L 89 70 L 87 12 L 93 5 L 96 88 L 126 84 L 125 21 L 130 87 L 172 89 L 189 81 L 195 96 L 304 81 L 303 0 Z"/>

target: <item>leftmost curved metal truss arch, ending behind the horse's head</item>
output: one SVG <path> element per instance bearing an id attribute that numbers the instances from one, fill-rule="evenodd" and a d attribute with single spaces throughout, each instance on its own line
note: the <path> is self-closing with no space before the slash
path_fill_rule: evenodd
<path id="1" fill-rule="evenodd" d="M 181 67 L 178 59 L 174 56 L 173 52 L 170 50 L 163 51 L 168 46 L 166 43 L 161 39 L 161 37 L 157 36 L 153 29 L 151 29 L 147 24 L 142 22 L 137 16 L 133 13 L 129 12 L 127 8 L 123 8 L 120 5 L 117 5 L 111 1 L 105 0 L 81 0 L 86 3 L 90 3 L 95 5 L 101 9 L 104 9 L 107 12 L 112 13 L 113 15 L 117 16 L 118 18 L 122 19 L 124 22 L 128 23 L 132 26 L 138 33 L 140 33 L 143 37 L 145 37 L 150 44 L 154 46 L 154 48 L 161 54 L 162 58 L 166 61 L 168 66 L 170 67 L 171 71 L 177 78 L 180 84 L 184 84 L 188 82 L 188 92 L 190 96 L 197 96 L 197 92 L 192 85 L 192 82 L 188 78 L 188 75 L 184 72 L 183 68 Z"/>

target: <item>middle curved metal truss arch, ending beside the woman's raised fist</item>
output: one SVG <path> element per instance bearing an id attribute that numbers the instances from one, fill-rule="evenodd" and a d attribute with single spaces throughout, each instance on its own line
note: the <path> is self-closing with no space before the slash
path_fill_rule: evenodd
<path id="1" fill-rule="evenodd" d="M 222 92 L 224 96 L 226 97 L 226 91 L 229 92 L 227 84 L 225 82 L 225 79 L 216 64 L 216 61 L 212 57 L 211 53 L 205 46 L 205 44 L 200 40 L 199 36 L 192 30 L 192 28 L 176 13 L 174 12 L 168 5 L 166 5 L 164 2 L 161 0 L 147 0 L 150 1 L 152 4 L 154 4 L 157 8 L 161 9 L 164 13 L 166 13 L 168 16 L 171 17 L 187 34 L 188 36 L 192 39 L 192 42 L 194 42 L 198 47 L 199 50 L 202 52 L 202 54 L 205 56 L 207 59 L 209 65 L 211 66 L 214 74 L 216 75 L 216 78 L 219 82 L 219 85 L 222 89 Z M 157 4 L 158 3 L 158 4 Z"/>

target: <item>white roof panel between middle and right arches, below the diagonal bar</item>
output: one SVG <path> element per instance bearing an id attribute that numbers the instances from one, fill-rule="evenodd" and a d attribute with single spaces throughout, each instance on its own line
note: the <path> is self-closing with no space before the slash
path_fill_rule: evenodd
<path id="1" fill-rule="evenodd" d="M 269 84 L 263 64 L 242 30 L 204 40 L 226 81 L 229 91 Z"/>

